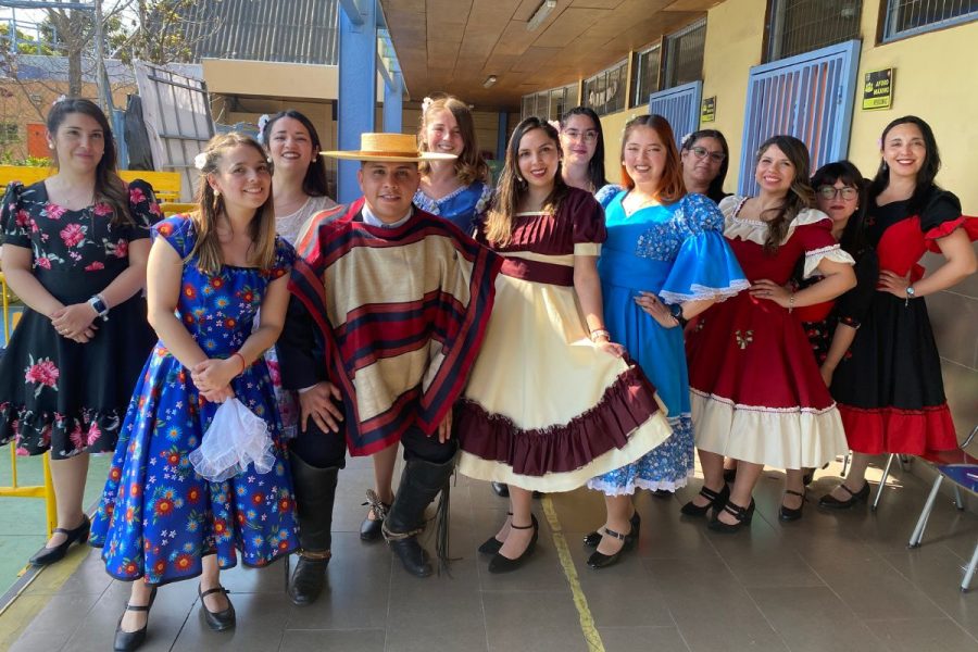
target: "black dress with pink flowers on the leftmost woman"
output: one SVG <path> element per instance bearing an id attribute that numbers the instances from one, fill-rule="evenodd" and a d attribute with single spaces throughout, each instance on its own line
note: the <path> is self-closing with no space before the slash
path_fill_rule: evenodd
<path id="1" fill-rule="evenodd" d="M 70 211 L 48 200 L 43 181 L 11 184 L 0 205 L 3 242 L 30 249 L 35 276 L 64 305 L 85 302 L 128 267 L 129 243 L 149 238 L 162 217 L 149 184 L 128 189 L 135 225 L 116 226 L 105 203 Z M 142 292 L 95 324 L 92 339 L 79 344 L 47 316 L 24 311 L 0 361 L 0 444 L 14 439 L 18 454 L 50 450 L 54 460 L 115 448 L 155 336 Z"/>

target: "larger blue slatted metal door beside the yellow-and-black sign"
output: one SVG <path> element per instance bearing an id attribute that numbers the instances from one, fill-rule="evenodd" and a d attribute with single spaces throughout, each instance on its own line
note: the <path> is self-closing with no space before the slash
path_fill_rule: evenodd
<path id="1" fill-rule="evenodd" d="M 740 195 L 757 192 L 754 155 L 772 136 L 802 140 L 812 172 L 847 156 L 858 64 L 860 41 L 851 40 L 751 68 Z"/>

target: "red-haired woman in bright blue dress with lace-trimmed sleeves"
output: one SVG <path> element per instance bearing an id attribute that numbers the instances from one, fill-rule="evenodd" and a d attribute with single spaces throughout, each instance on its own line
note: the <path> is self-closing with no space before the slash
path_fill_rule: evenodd
<path id="1" fill-rule="evenodd" d="M 607 240 L 598 272 L 604 323 L 659 390 L 673 436 L 627 466 L 593 478 L 607 521 L 585 537 L 593 568 L 638 540 L 636 489 L 675 491 L 693 471 L 689 379 L 681 325 L 749 287 L 724 241 L 724 216 L 703 195 L 686 195 L 673 129 L 660 115 L 634 118 L 622 139 L 625 189 L 599 193 Z"/>

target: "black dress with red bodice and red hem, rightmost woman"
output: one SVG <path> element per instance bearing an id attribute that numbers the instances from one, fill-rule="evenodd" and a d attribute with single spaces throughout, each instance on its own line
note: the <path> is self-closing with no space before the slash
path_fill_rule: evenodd
<path id="1" fill-rule="evenodd" d="M 867 236 L 879 268 L 910 273 L 913 284 L 924 276 L 917 261 L 936 249 L 935 240 L 978 221 L 962 216 L 958 199 L 938 188 L 919 214 L 911 214 L 908 203 L 872 204 Z M 853 451 L 923 454 L 957 448 L 924 299 L 875 291 L 851 352 L 836 368 L 832 396 Z"/>

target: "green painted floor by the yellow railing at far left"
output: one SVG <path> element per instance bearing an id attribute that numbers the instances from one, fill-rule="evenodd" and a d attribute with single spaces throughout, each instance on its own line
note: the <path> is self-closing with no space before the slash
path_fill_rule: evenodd
<path id="1" fill-rule="evenodd" d="M 110 455 L 92 455 L 85 501 L 88 509 L 99 499 L 109 474 Z M 40 457 L 17 457 L 17 484 L 43 482 Z M 0 448 L 0 486 L 11 484 L 10 449 Z M 36 498 L 0 498 L 0 594 L 17 580 L 27 560 L 45 544 L 45 501 Z"/>

